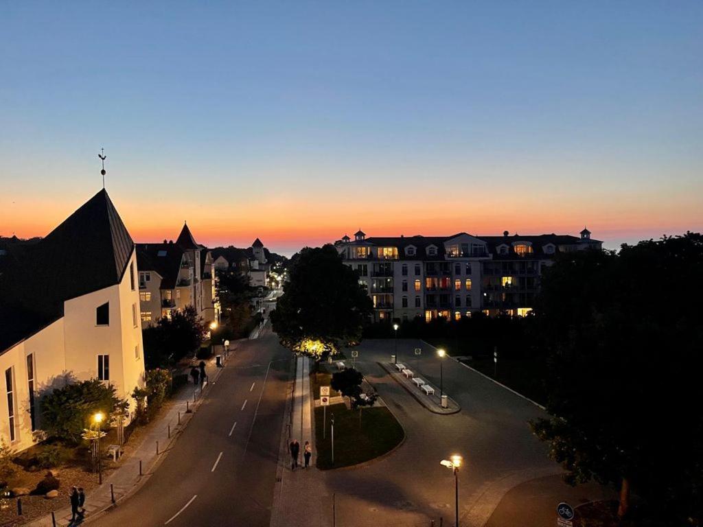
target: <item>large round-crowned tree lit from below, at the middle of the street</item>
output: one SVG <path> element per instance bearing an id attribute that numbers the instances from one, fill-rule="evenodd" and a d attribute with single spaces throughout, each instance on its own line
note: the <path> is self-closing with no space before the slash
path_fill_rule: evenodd
<path id="1" fill-rule="evenodd" d="M 322 358 L 340 346 L 358 344 L 371 310 L 358 275 L 342 263 L 333 245 L 306 247 L 291 260 L 271 322 L 288 349 Z M 305 341 L 313 346 L 302 346 Z M 314 353 L 318 343 L 323 346 L 319 354 Z"/>

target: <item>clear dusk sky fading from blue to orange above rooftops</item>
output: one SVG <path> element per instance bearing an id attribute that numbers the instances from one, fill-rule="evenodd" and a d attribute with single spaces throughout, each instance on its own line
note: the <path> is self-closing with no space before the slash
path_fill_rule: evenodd
<path id="1" fill-rule="evenodd" d="M 148 4 L 148 5 L 145 5 Z M 0 235 L 703 230 L 703 2 L 0 3 Z"/>

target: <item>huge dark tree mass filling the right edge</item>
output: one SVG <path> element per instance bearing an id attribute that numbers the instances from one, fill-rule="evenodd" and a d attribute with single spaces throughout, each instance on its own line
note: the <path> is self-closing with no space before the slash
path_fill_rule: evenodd
<path id="1" fill-rule="evenodd" d="M 552 375 L 533 423 L 567 481 L 594 478 L 631 491 L 667 518 L 702 518 L 699 398 L 703 237 L 687 233 L 566 254 L 543 276 L 535 308 Z"/>

